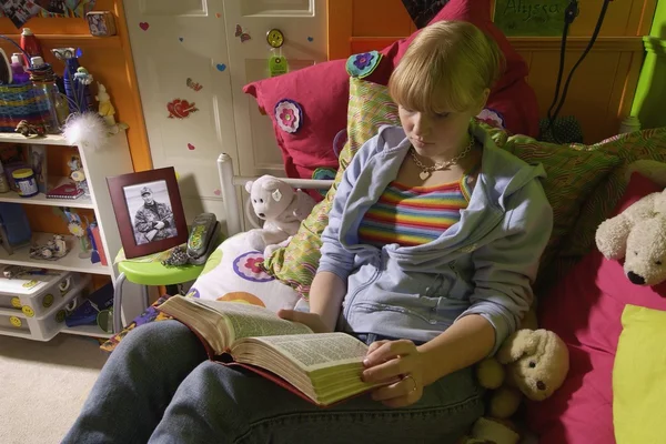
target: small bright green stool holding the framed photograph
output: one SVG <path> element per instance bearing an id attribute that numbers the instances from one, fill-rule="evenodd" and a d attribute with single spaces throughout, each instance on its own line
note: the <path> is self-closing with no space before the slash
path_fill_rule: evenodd
<path id="1" fill-rule="evenodd" d="M 125 280 L 141 285 L 143 295 L 143 310 L 148 309 L 149 285 L 175 285 L 193 281 L 203 271 L 202 265 L 164 266 L 161 262 L 131 262 L 118 263 L 120 274 L 115 279 L 113 289 L 113 333 L 122 330 L 122 284 Z"/>

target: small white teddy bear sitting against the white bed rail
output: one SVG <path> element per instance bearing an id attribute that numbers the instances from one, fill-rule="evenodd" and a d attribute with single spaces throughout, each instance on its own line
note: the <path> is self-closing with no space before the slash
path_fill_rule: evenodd
<path id="1" fill-rule="evenodd" d="M 263 251 L 264 258 L 291 241 L 315 204 L 305 192 L 272 175 L 248 182 L 245 191 L 254 213 L 264 221 L 262 229 L 248 232 L 246 240 L 251 248 Z"/>

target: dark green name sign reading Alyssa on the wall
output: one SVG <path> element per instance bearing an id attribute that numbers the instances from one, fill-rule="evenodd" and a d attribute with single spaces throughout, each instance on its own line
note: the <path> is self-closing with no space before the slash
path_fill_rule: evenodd
<path id="1" fill-rule="evenodd" d="M 562 36 L 569 0 L 495 0 L 495 24 L 506 36 Z"/>

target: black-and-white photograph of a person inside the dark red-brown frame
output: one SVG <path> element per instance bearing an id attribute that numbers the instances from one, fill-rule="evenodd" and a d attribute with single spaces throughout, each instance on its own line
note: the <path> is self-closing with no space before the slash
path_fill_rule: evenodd
<path id="1" fill-rule="evenodd" d="M 137 245 L 178 235 L 167 181 L 123 188 Z"/>

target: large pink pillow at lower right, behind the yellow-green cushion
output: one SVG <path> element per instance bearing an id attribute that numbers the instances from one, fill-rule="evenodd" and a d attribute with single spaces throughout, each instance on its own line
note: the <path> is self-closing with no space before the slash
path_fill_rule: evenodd
<path id="1" fill-rule="evenodd" d="M 634 173 L 614 214 L 660 191 Z M 539 302 L 539 327 L 567 344 L 571 370 L 564 385 L 543 402 L 531 402 L 528 426 L 541 444 L 608 444 L 613 430 L 613 364 L 627 303 L 666 310 L 666 283 L 634 285 L 622 263 L 591 252 Z"/>

